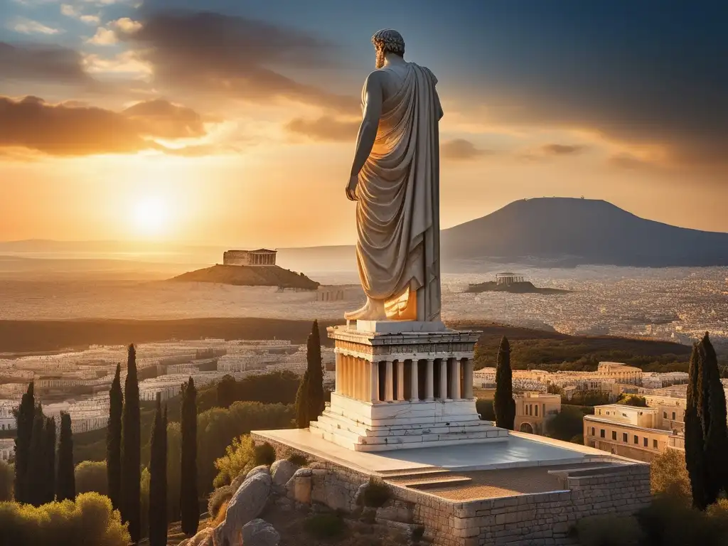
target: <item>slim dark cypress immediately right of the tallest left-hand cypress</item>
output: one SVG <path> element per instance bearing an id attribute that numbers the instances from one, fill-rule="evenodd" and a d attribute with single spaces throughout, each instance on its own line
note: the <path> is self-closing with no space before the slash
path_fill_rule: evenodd
<path id="1" fill-rule="evenodd" d="M 157 394 L 157 413 L 151 430 L 149 462 L 149 546 L 167 545 L 167 408 L 162 415 Z"/>

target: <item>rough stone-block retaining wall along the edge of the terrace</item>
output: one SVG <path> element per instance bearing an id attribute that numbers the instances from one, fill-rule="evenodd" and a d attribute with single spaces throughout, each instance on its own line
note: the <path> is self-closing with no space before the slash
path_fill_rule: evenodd
<path id="1" fill-rule="evenodd" d="M 256 438 L 261 443 L 264 438 Z M 353 512 L 355 494 L 369 476 L 317 459 L 281 443 L 277 455 L 299 453 L 312 467 L 312 501 Z M 559 472 L 563 491 L 457 502 L 427 491 L 388 484 L 392 496 L 412 507 L 412 523 L 435 546 L 571 546 L 569 531 L 590 515 L 636 513 L 650 502 L 649 465 Z M 331 498 L 330 498 L 331 495 Z M 332 505 L 333 504 L 333 505 Z"/>

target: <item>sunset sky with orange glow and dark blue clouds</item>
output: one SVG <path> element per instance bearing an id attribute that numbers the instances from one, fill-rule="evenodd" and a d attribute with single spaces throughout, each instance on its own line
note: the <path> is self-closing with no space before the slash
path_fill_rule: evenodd
<path id="1" fill-rule="evenodd" d="M 1 0 L 0 240 L 353 242 L 381 28 L 438 77 L 443 227 L 584 196 L 728 232 L 727 20 L 708 0 Z"/>

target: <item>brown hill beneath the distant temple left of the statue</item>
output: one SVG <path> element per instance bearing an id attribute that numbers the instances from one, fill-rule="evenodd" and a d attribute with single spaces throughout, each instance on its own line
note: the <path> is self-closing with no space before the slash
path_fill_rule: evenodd
<path id="1" fill-rule="evenodd" d="M 319 286 L 303 273 L 292 272 L 279 266 L 223 266 L 183 273 L 170 279 L 179 282 L 217 282 L 235 286 L 277 286 L 316 290 Z"/>

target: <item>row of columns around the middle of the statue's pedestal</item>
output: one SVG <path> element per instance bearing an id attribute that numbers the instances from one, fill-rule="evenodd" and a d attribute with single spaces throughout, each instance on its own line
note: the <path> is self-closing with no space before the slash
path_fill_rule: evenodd
<path id="1" fill-rule="evenodd" d="M 365 402 L 472 399 L 470 358 L 380 360 L 336 354 L 336 393 Z"/>

